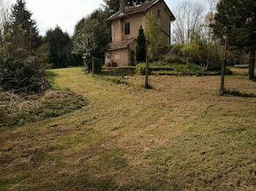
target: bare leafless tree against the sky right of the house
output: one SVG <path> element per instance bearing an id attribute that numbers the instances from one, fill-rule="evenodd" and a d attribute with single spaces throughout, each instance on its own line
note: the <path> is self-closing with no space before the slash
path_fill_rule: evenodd
<path id="1" fill-rule="evenodd" d="M 198 1 L 182 1 L 176 7 L 171 39 L 176 43 L 189 43 L 204 25 L 206 7 Z"/>

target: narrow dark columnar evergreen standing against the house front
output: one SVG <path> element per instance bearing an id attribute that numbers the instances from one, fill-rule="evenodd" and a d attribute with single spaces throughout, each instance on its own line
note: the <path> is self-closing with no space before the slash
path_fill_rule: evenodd
<path id="1" fill-rule="evenodd" d="M 146 61 L 146 37 L 144 35 L 144 31 L 141 26 L 139 29 L 139 35 L 136 43 L 135 56 L 136 56 L 136 61 L 138 63 Z"/>

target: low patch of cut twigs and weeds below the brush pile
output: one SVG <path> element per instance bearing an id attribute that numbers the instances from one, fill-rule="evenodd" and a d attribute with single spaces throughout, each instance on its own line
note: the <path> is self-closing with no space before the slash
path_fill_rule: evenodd
<path id="1" fill-rule="evenodd" d="M 0 93 L 0 125 L 12 127 L 59 117 L 86 106 L 82 95 L 70 91 L 48 90 L 42 95 Z"/>

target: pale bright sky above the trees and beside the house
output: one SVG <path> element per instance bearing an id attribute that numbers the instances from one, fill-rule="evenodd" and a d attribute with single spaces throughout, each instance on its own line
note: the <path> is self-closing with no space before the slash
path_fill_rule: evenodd
<path id="1" fill-rule="evenodd" d="M 15 0 L 12 4 L 15 3 Z M 170 10 L 175 9 L 180 0 L 165 0 Z M 200 0 L 203 1 L 203 0 Z M 39 34 L 45 35 L 49 28 L 59 25 L 69 35 L 74 32 L 75 24 L 103 4 L 102 0 L 26 0 L 27 8 L 37 21 Z"/>

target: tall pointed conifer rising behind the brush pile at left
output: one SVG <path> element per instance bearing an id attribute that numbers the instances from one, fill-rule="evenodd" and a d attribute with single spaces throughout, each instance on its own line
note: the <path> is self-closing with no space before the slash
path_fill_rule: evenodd
<path id="1" fill-rule="evenodd" d="M 14 49 L 22 48 L 29 53 L 37 50 L 42 42 L 37 30 L 37 23 L 31 18 L 32 13 L 26 8 L 26 1 L 16 1 L 16 4 L 12 6 L 11 17 L 12 47 Z"/>

